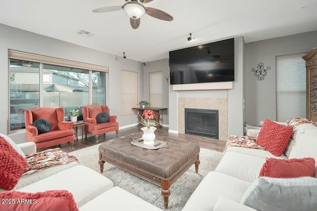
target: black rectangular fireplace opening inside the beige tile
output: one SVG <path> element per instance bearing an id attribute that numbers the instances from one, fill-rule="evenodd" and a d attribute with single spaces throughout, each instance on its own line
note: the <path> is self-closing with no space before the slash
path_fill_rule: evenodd
<path id="1" fill-rule="evenodd" d="M 219 139 L 218 110 L 185 108 L 185 134 Z"/>

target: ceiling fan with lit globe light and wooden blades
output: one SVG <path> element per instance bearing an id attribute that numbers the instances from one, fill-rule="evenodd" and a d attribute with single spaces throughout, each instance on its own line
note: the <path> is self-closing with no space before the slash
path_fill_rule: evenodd
<path id="1" fill-rule="evenodd" d="M 172 21 L 173 17 L 159 9 L 152 7 L 145 7 L 143 4 L 153 0 L 125 0 L 123 6 L 106 6 L 94 9 L 93 12 L 112 12 L 123 9 L 130 17 L 130 24 L 133 29 L 140 26 L 140 17 L 147 13 L 148 15 L 164 21 Z"/>

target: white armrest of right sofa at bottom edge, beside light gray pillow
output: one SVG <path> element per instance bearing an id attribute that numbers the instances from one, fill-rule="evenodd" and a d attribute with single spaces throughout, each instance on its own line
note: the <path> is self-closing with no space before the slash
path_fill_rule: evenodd
<path id="1" fill-rule="evenodd" d="M 216 204 L 214 205 L 213 211 L 257 211 L 253 208 L 232 201 L 225 197 L 219 196 Z"/>

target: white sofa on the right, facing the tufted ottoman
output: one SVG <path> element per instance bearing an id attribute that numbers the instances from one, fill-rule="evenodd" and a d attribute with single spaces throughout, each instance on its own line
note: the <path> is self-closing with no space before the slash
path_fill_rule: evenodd
<path id="1" fill-rule="evenodd" d="M 182 211 L 255 211 L 241 204 L 241 199 L 259 177 L 265 159 L 270 157 L 275 156 L 265 150 L 227 148 L 216 169 L 206 175 Z M 295 127 L 284 154 L 275 158 L 307 157 L 317 161 L 317 127 L 312 124 Z M 317 177 L 317 168 L 315 177 Z M 317 199 L 313 200 L 317 203 Z"/>

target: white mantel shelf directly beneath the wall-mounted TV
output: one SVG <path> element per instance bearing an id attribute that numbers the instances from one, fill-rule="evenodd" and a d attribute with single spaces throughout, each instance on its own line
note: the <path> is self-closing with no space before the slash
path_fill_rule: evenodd
<path id="1" fill-rule="evenodd" d="M 215 82 L 215 83 L 201 83 L 201 84 L 175 84 L 174 91 L 184 90 L 223 90 L 232 89 L 233 82 Z"/>

